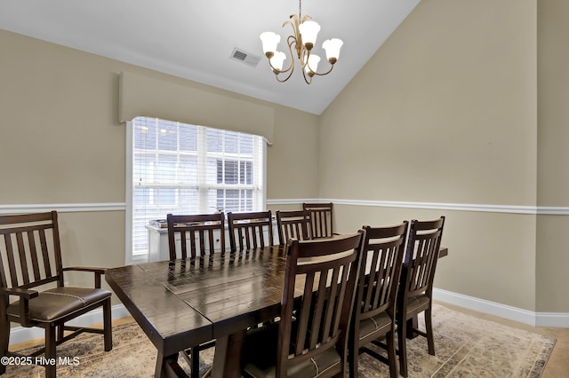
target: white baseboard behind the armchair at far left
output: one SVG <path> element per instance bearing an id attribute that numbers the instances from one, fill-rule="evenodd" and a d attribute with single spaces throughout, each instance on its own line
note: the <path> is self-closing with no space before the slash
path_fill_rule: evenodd
<path id="1" fill-rule="evenodd" d="M 131 313 L 126 310 L 124 304 L 116 304 L 111 307 L 112 319 L 121 319 L 131 316 Z M 93 324 L 101 323 L 103 321 L 102 309 L 89 311 L 76 319 L 68 322 L 70 326 L 76 327 L 90 327 Z M 13 327 L 10 330 L 10 345 L 17 343 L 28 342 L 29 340 L 41 339 L 45 336 L 45 331 L 40 327 Z"/>

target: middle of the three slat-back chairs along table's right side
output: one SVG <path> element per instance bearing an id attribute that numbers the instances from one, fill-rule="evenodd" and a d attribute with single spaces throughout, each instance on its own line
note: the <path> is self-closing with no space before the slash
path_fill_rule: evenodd
<path id="1" fill-rule="evenodd" d="M 362 268 L 357 283 L 354 318 L 349 333 L 349 376 L 357 377 L 357 360 L 365 352 L 389 365 L 396 378 L 395 348 L 397 287 L 405 255 L 408 222 L 385 227 L 366 225 Z M 386 343 L 380 340 L 385 338 Z M 387 349 L 388 358 L 368 348 Z"/>

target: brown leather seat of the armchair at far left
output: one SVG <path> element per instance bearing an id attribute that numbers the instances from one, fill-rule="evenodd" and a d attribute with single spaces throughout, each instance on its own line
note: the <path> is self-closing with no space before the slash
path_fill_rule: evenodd
<path id="1" fill-rule="evenodd" d="M 53 287 L 29 300 L 29 318 L 37 322 L 52 322 L 110 295 L 110 291 L 100 288 Z M 6 312 L 19 317 L 20 301 L 10 303 Z"/>

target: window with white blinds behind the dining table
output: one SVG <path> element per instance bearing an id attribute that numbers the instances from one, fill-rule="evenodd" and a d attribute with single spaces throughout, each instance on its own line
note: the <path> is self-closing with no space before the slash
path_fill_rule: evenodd
<path id="1" fill-rule="evenodd" d="M 168 213 L 265 209 L 264 138 L 148 117 L 127 130 L 128 264 L 147 259 L 145 226 Z"/>

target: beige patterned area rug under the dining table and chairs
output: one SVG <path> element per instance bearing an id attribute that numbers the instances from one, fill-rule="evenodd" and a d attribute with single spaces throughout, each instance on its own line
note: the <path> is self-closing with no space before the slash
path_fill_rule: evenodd
<path id="1" fill-rule="evenodd" d="M 421 319 L 422 317 L 420 317 Z M 435 305 L 433 327 L 437 355 L 427 352 L 425 338 L 407 343 L 409 377 L 531 377 L 541 376 L 555 339 L 470 317 Z M 24 350 L 25 351 L 25 350 Z M 102 335 L 83 334 L 58 347 L 68 365 L 59 377 L 152 377 L 156 349 L 135 323 L 113 328 L 113 350 L 103 351 Z M 212 363 L 212 350 L 200 355 L 200 370 Z M 389 376 L 389 368 L 368 355 L 359 359 L 360 377 Z M 183 358 L 180 365 L 188 370 Z M 3 378 L 42 377 L 38 366 L 8 366 Z"/>

